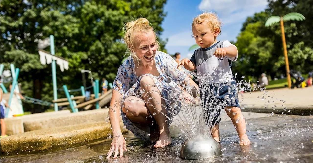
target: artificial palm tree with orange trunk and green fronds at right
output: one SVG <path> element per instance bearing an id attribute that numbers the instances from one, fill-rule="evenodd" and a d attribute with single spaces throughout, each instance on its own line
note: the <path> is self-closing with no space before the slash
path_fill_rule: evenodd
<path id="1" fill-rule="evenodd" d="M 271 16 L 266 20 L 265 27 L 269 27 L 275 23 L 280 22 L 281 33 L 282 33 L 281 38 L 283 41 L 283 48 L 284 48 L 284 55 L 285 55 L 287 81 L 288 81 L 288 87 L 290 88 L 291 87 L 291 79 L 290 79 L 290 74 L 289 74 L 289 62 L 288 62 L 285 29 L 284 29 L 284 21 L 288 21 L 288 20 L 302 21 L 302 20 L 305 20 L 305 17 L 300 13 L 288 13 L 283 17 Z"/>

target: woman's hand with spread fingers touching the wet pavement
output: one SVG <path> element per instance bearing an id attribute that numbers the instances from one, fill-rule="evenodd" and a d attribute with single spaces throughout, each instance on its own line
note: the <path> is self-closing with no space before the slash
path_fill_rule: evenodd
<path id="1" fill-rule="evenodd" d="M 114 151 L 115 151 L 115 154 L 113 158 L 117 158 L 117 154 L 119 150 L 120 150 L 120 157 L 123 157 L 123 150 L 127 151 L 126 141 L 123 135 L 118 135 L 118 136 L 113 137 L 111 147 L 110 147 L 110 150 L 108 151 L 108 156 L 106 158 L 109 158 Z"/>

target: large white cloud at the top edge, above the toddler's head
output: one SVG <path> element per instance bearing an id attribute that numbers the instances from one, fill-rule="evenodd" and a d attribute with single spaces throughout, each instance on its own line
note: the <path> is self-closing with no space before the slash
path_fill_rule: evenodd
<path id="1" fill-rule="evenodd" d="M 238 23 L 264 10 L 267 0 L 202 0 L 199 10 L 216 12 L 224 25 Z"/>

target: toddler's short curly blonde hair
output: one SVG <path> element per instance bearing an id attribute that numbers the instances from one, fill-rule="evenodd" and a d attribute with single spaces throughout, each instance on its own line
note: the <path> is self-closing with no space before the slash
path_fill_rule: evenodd
<path id="1" fill-rule="evenodd" d="M 220 18 L 218 18 L 216 13 L 203 13 L 198 15 L 192 20 L 192 28 L 196 24 L 203 24 L 204 22 L 207 22 L 209 25 L 212 26 L 211 30 L 214 30 L 215 28 L 219 29 L 218 35 L 221 34 L 221 27 L 223 26 L 222 21 Z"/>

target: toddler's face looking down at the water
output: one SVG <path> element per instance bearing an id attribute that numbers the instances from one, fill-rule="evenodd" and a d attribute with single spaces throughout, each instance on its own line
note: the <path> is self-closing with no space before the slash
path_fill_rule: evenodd
<path id="1" fill-rule="evenodd" d="M 198 46 L 201 48 L 208 48 L 214 43 L 215 37 L 217 37 L 219 31 L 212 31 L 211 25 L 204 22 L 202 24 L 194 25 L 192 27 L 192 33 Z"/>

